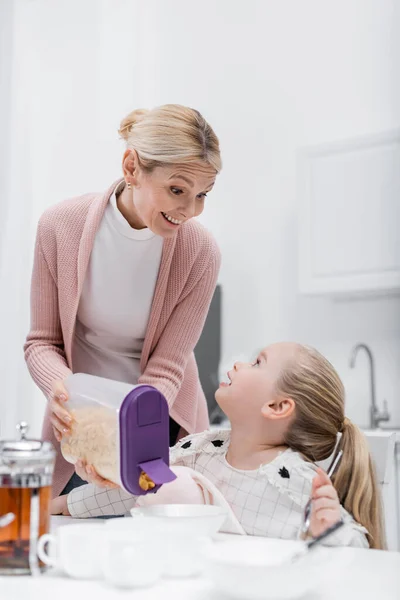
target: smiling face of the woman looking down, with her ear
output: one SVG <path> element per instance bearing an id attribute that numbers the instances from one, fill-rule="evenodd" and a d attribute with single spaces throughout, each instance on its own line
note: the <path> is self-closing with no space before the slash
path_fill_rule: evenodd
<path id="1" fill-rule="evenodd" d="M 216 171 L 207 163 L 166 165 L 143 170 L 137 157 L 127 155 L 125 179 L 132 189 L 134 227 L 148 227 L 156 235 L 170 237 L 189 219 L 204 210 L 207 193 L 213 188 Z"/>

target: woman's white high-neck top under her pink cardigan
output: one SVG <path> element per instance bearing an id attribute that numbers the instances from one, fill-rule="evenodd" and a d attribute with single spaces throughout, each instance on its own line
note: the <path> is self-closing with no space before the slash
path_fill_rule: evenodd
<path id="1" fill-rule="evenodd" d="M 163 238 L 133 229 L 114 193 L 90 256 L 72 347 L 74 373 L 136 384 Z"/>

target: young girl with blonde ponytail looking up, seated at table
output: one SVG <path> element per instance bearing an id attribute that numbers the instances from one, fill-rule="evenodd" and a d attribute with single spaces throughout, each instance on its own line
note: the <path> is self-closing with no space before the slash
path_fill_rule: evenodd
<path id="1" fill-rule="evenodd" d="M 344 415 L 344 388 L 332 365 L 316 350 L 281 343 L 264 349 L 254 363 L 236 363 L 228 377 L 216 400 L 231 430 L 178 442 L 170 455 L 178 479 L 142 503 L 182 503 L 178 467 L 189 467 L 222 494 L 249 535 L 296 539 L 312 497 L 308 535 L 342 519 L 345 525 L 327 544 L 384 548 L 371 457 L 363 434 Z M 315 463 L 340 450 L 331 481 Z M 53 513 L 118 515 L 137 503 L 124 490 L 110 489 L 90 466 L 77 470 L 91 483 L 56 498 Z"/>

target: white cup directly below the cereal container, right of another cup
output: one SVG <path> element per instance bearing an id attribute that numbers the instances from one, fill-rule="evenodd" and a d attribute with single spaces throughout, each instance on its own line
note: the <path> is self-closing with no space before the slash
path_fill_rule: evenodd
<path id="1" fill-rule="evenodd" d="M 105 527 L 103 576 L 116 587 L 135 588 L 154 585 L 162 576 L 163 556 L 158 540 Z"/>

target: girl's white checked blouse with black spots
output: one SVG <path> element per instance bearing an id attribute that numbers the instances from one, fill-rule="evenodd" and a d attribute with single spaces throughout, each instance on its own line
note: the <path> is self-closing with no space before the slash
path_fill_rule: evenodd
<path id="1" fill-rule="evenodd" d="M 170 464 L 190 467 L 207 477 L 229 503 L 248 535 L 297 539 L 302 515 L 310 498 L 316 466 L 286 450 L 252 471 L 239 470 L 226 460 L 230 431 L 204 431 L 180 440 L 170 450 Z M 68 494 L 73 517 L 125 514 L 137 497 L 93 484 Z M 368 547 L 366 530 L 342 508 L 345 527 L 326 540 L 327 545 Z"/>

